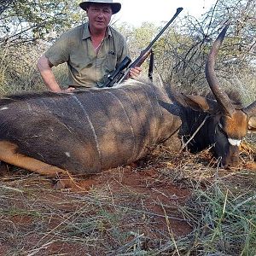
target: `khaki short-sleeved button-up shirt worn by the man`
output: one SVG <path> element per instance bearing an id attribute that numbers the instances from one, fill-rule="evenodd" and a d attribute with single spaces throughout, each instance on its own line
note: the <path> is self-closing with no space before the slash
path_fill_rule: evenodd
<path id="1" fill-rule="evenodd" d="M 87 22 L 61 35 L 44 55 L 54 66 L 67 62 L 70 85 L 102 87 L 108 81 L 107 75 L 129 56 L 129 51 L 125 38 L 108 26 L 96 53 Z"/>

